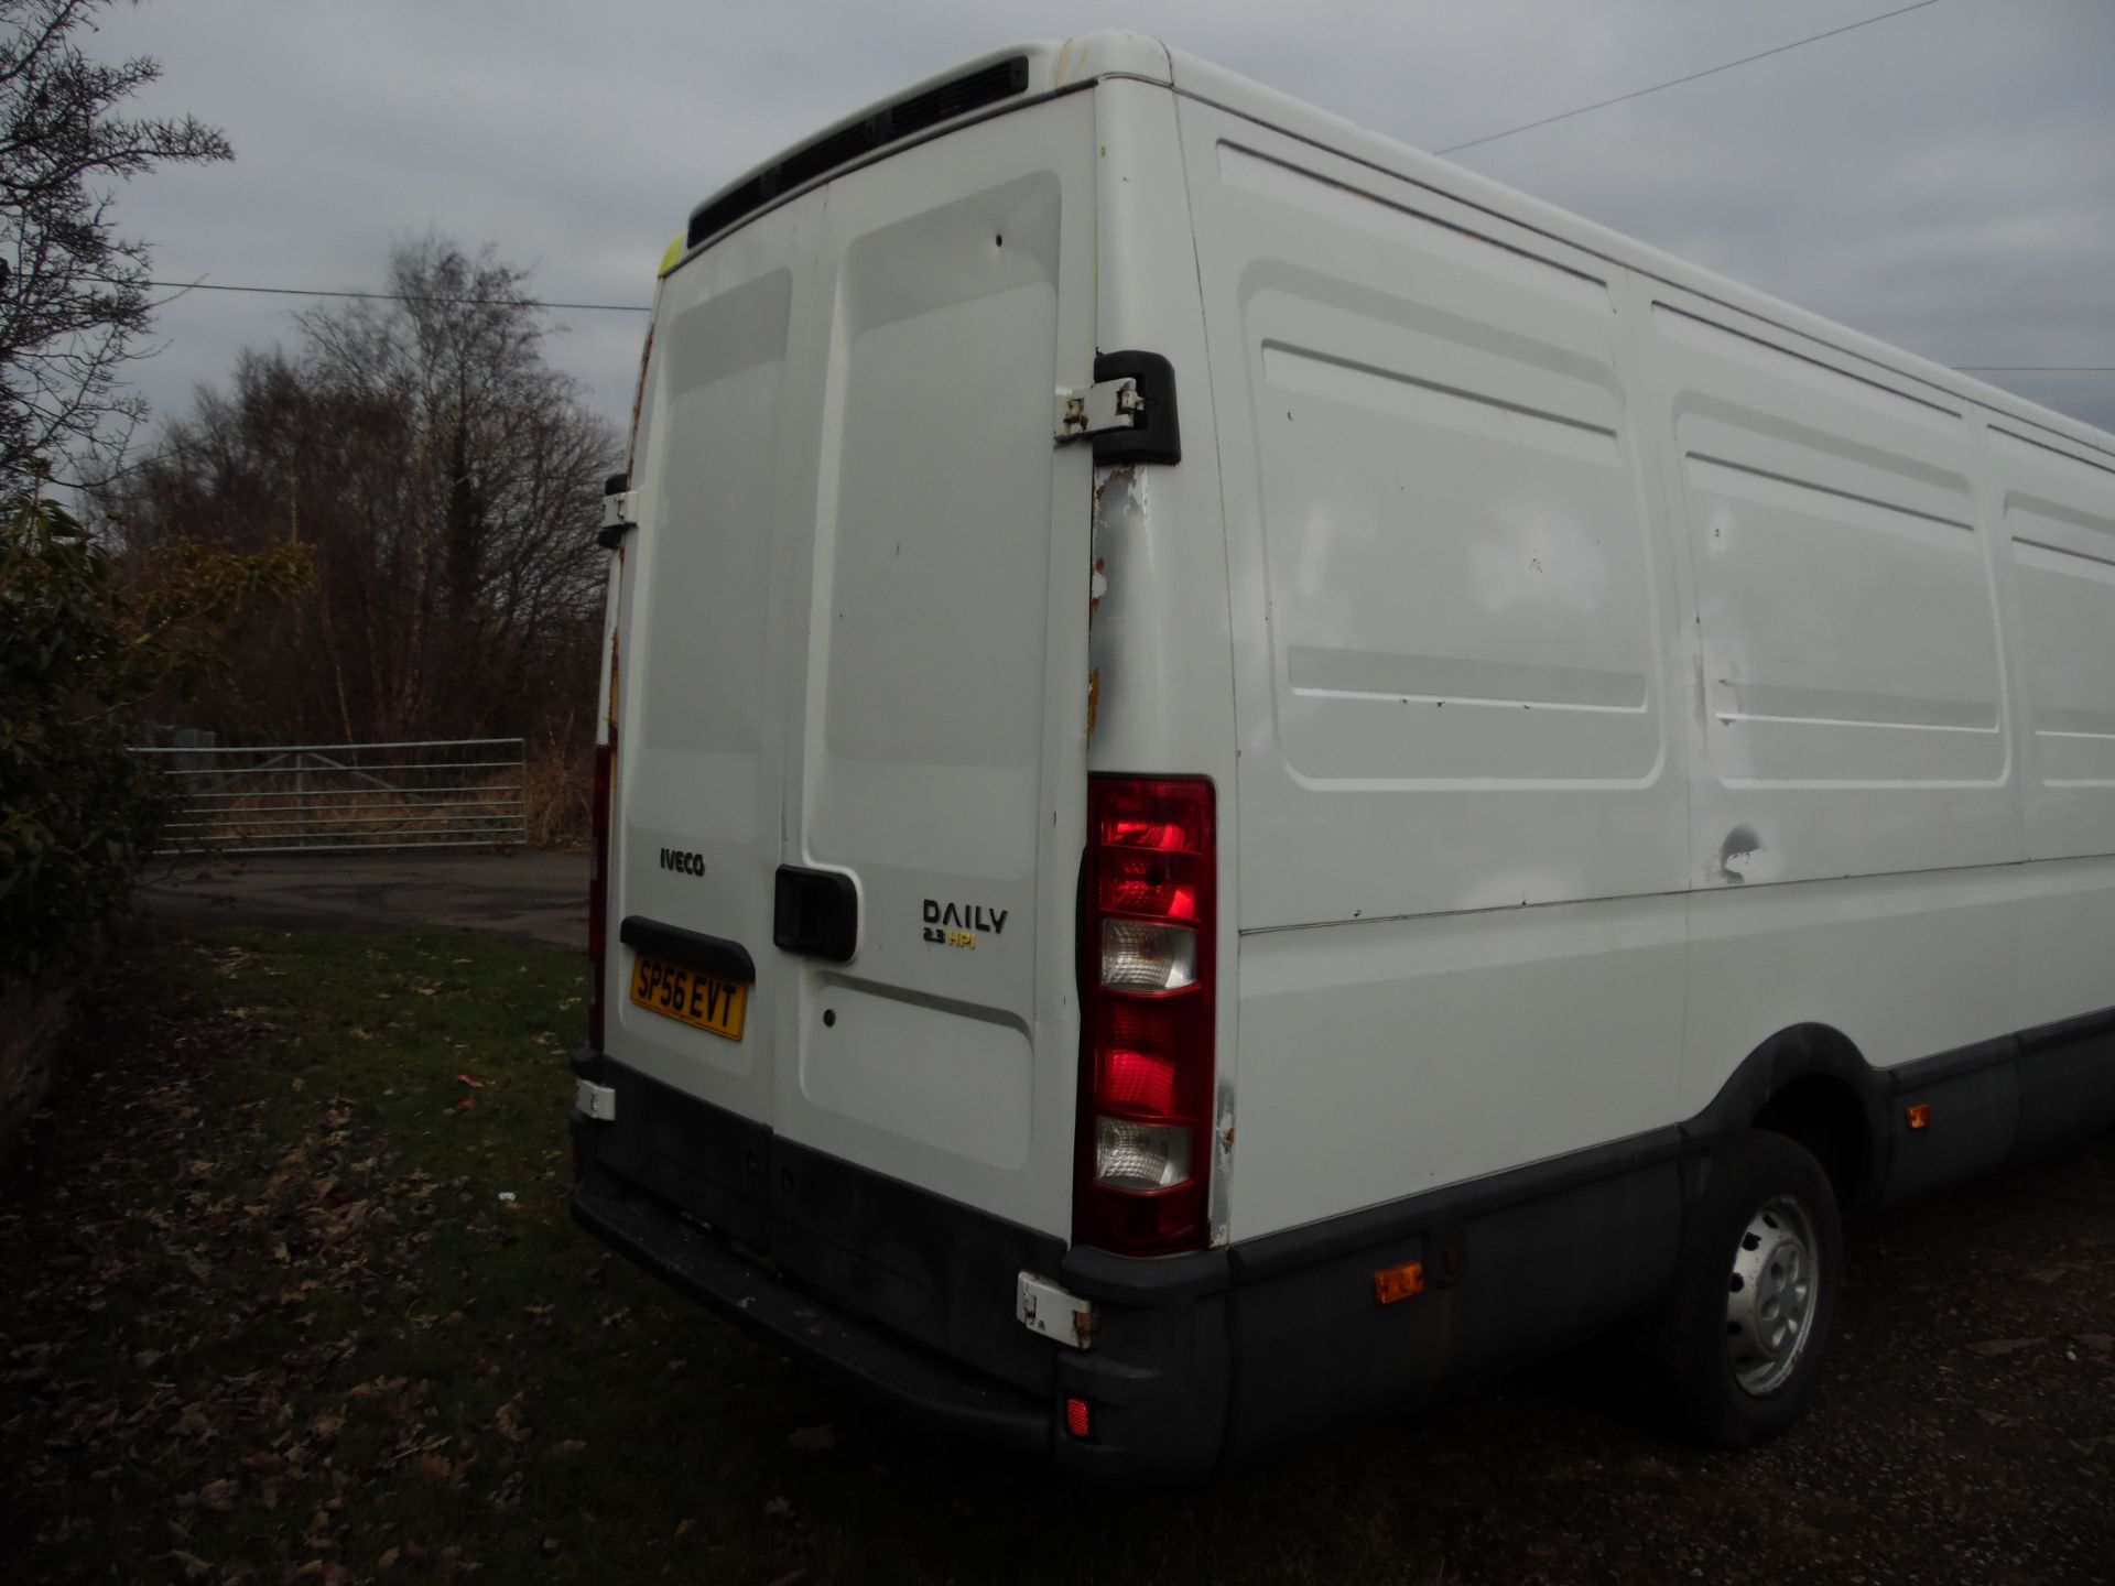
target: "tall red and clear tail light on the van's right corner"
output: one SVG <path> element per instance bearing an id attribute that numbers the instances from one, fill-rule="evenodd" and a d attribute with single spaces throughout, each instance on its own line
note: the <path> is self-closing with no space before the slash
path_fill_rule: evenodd
<path id="1" fill-rule="evenodd" d="M 1201 776 L 1087 778 L 1072 1237 L 1210 1243 L 1218 844 Z"/>

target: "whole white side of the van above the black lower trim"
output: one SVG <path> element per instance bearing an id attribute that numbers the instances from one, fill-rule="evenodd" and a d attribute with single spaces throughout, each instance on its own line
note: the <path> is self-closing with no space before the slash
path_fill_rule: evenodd
<path id="1" fill-rule="evenodd" d="M 1180 116 L 1242 723 L 1235 1237 L 1694 1121 L 1796 1026 L 1878 1087 L 2016 1068 L 1948 1081 L 1897 1188 L 2115 1121 L 2100 1034 L 2013 1040 L 2115 1009 L 2115 459 L 1442 165 Z"/>

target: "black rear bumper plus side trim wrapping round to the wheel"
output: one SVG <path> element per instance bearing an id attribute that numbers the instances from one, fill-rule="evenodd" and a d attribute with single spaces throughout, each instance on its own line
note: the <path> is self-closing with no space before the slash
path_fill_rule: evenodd
<path id="1" fill-rule="evenodd" d="M 1140 1260 L 827 1157 L 611 1062 L 575 1070 L 573 1214 L 783 1349 L 950 1432 L 1058 1468 L 1189 1480 L 1593 1336 L 1656 1303 L 1684 1216 L 1675 1127 L 1225 1250 Z M 1419 1262 L 1383 1305 L 1375 1273 Z M 1096 1307 L 1028 1332 L 1019 1273 Z M 1064 1430 L 1070 1396 L 1091 1436 Z"/>

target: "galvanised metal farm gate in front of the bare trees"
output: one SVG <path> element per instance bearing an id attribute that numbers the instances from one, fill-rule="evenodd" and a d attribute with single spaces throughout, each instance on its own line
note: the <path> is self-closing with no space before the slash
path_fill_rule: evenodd
<path id="1" fill-rule="evenodd" d="M 133 753 L 173 785 L 163 854 L 510 848 L 527 837 L 520 738 Z"/>

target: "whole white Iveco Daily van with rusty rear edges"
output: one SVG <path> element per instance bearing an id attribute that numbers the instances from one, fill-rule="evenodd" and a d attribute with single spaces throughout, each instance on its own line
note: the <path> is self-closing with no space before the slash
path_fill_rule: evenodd
<path id="1" fill-rule="evenodd" d="M 713 197 L 613 480 L 575 1212 L 1184 1474 L 2115 1121 L 2115 438 L 1157 42 Z"/>

